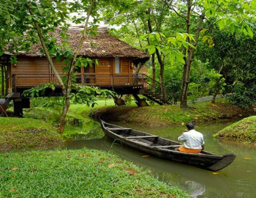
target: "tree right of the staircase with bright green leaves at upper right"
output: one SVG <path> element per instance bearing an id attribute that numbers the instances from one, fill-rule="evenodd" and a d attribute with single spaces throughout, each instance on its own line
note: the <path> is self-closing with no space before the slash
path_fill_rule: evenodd
<path id="1" fill-rule="evenodd" d="M 252 37 L 252 31 L 246 19 L 248 16 L 255 14 L 256 4 L 253 1 L 247 2 L 243 0 L 186 0 L 185 4 L 182 1 L 163 0 L 163 2 L 169 6 L 171 11 L 185 20 L 185 32 L 187 34 L 190 34 L 192 27 L 197 24 L 194 39 L 187 38 L 187 42 L 194 47 L 190 45 L 188 48 L 183 48 L 184 71 L 181 88 L 181 107 L 187 108 L 188 83 L 194 51 L 198 44 L 200 33 L 207 30 L 202 29 L 203 20 L 215 17 L 216 23 L 221 29 L 228 26 L 231 32 L 242 32 Z M 193 16 L 196 16 L 197 19 L 191 20 Z"/>

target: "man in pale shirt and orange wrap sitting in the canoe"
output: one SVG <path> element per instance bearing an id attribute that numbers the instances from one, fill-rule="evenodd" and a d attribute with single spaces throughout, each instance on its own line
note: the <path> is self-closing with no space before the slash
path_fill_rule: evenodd
<path id="1" fill-rule="evenodd" d="M 194 129 L 193 123 L 188 123 L 186 127 L 188 131 L 185 130 L 182 135 L 178 137 L 179 141 L 183 141 L 183 146 L 175 150 L 184 153 L 200 153 L 201 150 L 204 150 L 203 134 Z"/>

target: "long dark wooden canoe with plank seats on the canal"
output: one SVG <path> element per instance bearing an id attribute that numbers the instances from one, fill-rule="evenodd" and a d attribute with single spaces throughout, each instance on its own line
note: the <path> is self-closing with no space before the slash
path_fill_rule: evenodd
<path id="1" fill-rule="evenodd" d="M 167 159 L 201 169 L 218 171 L 230 165 L 236 154 L 217 155 L 205 150 L 198 154 L 182 153 L 174 150 L 181 143 L 152 135 L 150 133 L 112 125 L 101 120 L 102 129 L 106 136 L 118 139 L 122 144 L 158 158 Z"/>

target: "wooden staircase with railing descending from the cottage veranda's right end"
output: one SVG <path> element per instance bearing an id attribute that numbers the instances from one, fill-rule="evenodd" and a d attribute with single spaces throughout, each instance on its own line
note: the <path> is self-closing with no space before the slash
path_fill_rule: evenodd
<path id="1" fill-rule="evenodd" d="M 173 94 L 174 92 L 167 88 L 165 85 L 155 81 L 153 78 L 143 74 L 143 89 L 141 91 L 142 95 L 145 95 L 148 99 L 158 103 L 159 105 L 171 105 L 173 104 Z M 154 82 L 154 83 L 153 83 Z M 161 86 L 166 89 L 166 94 L 168 98 L 162 96 Z"/>

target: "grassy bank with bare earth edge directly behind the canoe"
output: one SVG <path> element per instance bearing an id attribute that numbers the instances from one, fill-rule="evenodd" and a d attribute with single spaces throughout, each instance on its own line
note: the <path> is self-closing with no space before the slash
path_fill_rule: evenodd
<path id="1" fill-rule="evenodd" d="M 167 126 L 180 125 L 189 121 L 206 122 L 220 119 L 235 119 L 255 115 L 253 109 L 242 109 L 233 104 L 223 102 L 210 102 L 189 105 L 183 110 L 178 105 L 148 106 L 112 106 L 95 109 L 91 116 L 104 120 L 126 121 L 138 125 Z"/>

